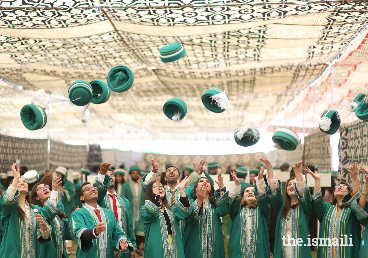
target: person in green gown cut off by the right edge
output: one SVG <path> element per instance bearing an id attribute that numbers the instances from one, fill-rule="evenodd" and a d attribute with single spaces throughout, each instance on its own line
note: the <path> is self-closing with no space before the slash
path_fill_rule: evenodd
<path id="1" fill-rule="evenodd" d="M 368 169 L 359 165 L 361 170 L 368 174 Z M 368 257 L 368 205 L 367 205 L 367 196 L 368 196 L 368 175 L 364 175 L 365 177 L 365 185 L 362 192 L 362 195 L 357 198 L 352 199 L 351 195 L 346 195 L 343 198 L 343 204 L 354 211 L 357 215 L 358 221 L 364 226 L 364 233 L 362 236 L 362 241 L 359 249 L 359 258 L 367 258 Z M 341 236 L 340 236 L 341 237 Z M 350 237 L 350 236 L 349 236 Z"/>

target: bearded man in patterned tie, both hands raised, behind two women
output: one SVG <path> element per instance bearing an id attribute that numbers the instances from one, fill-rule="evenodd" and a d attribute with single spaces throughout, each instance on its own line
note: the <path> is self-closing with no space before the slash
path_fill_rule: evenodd
<path id="1" fill-rule="evenodd" d="M 151 159 L 151 164 L 153 166 L 152 171 L 142 178 L 142 189 L 144 191 L 146 190 L 146 186 L 148 185 L 148 183 L 154 181 L 154 175 L 157 174 L 159 171 L 159 161 L 160 158 L 157 158 L 156 162 L 153 161 L 153 159 Z M 195 173 L 197 174 L 197 177 L 207 177 L 213 184 L 213 180 L 209 177 L 209 175 L 203 172 L 203 165 L 205 164 L 205 162 L 206 161 L 202 159 L 197 165 L 193 161 Z M 166 166 L 166 173 L 164 180 L 167 182 L 167 186 L 165 186 L 165 192 L 167 196 L 167 203 L 169 204 L 169 206 L 175 207 L 176 203 L 180 200 L 181 192 L 178 189 L 179 179 L 180 173 L 178 169 L 173 165 Z M 192 186 L 185 186 L 185 195 L 188 196 L 188 199 L 192 199 L 193 197 Z M 185 221 L 184 220 L 180 221 L 179 226 L 180 226 L 180 234 L 183 237 Z"/>

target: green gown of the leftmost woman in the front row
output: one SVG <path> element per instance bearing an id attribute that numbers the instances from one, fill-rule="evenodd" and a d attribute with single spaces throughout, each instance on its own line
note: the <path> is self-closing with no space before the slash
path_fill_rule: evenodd
<path id="1" fill-rule="evenodd" d="M 20 220 L 17 213 L 17 206 L 19 200 L 19 191 L 15 192 L 13 200 L 8 201 L 7 191 L 0 196 L 0 213 L 1 224 L 4 228 L 4 237 L 1 241 L 0 258 L 26 258 L 29 251 L 29 257 L 35 258 L 38 252 L 38 241 L 40 244 L 47 244 L 51 242 L 51 234 L 48 239 L 41 237 L 38 221 L 36 220 L 36 213 L 33 211 L 35 207 L 31 207 L 29 203 L 30 226 L 26 228 L 25 220 Z M 37 214 L 43 215 L 42 210 L 38 210 Z M 47 221 L 46 221 L 47 223 Z M 49 226 L 50 230 L 51 226 Z M 30 232 L 31 246 L 27 250 L 26 231 Z"/>

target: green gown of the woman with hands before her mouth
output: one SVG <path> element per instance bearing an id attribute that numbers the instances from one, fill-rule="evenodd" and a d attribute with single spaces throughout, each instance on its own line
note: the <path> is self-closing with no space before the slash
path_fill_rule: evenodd
<path id="1" fill-rule="evenodd" d="M 206 209 L 198 210 L 196 203 L 191 199 L 191 210 L 185 219 L 183 237 L 185 258 L 223 258 L 225 257 L 224 239 L 222 235 L 221 217 L 228 211 L 219 207 L 229 198 L 228 195 L 220 196 L 219 190 L 215 191 L 216 207 L 208 201 Z"/>

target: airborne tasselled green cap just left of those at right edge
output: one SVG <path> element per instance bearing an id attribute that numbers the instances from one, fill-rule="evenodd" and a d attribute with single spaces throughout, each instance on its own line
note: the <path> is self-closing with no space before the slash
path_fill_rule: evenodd
<path id="1" fill-rule="evenodd" d="M 335 110 L 325 110 L 322 115 L 313 115 L 313 120 L 319 125 L 319 130 L 326 134 L 335 134 L 340 128 L 340 114 Z"/>

